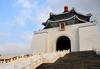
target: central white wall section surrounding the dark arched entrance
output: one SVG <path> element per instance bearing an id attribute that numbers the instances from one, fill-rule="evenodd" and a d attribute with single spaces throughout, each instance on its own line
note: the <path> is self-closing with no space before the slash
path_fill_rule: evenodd
<path id="1" fill-rule="evenodd" d="M 61 36 L 67 36 L 71 41 L 71 51 L 77 51 L 78 48 L 78 25 L 66 26 L 65 31 L 60 31 L 59 28 L 50 30 L 50 46 L 51 51 L 56 51 L 56 41 Z"/>

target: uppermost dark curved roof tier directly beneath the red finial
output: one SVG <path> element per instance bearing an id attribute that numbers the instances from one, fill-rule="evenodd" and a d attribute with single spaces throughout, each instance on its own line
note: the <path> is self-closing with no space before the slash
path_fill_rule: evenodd
<path id="1" fill-rule="evenodd" d="M 84 15 L 84 14 L 77 12 L 74 8 L 72 8 L 70 11 L 63 12 L 60 14 L 54 14 L 50 12 L 50 18 L 48 20 L 52 20 L 52 21 L 62 20 L 62 19 L 70 18 L 74 15 L 77 15 L 80 19 L 85 20 L 85 21 L 90 21 L 90 17 L 92 16 L 91 13 Z"/>

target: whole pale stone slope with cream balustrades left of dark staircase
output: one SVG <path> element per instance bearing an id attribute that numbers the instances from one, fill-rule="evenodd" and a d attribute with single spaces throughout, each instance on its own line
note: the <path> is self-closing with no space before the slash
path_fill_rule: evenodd
<path id="1" fill-rule="evenodd" d="M 0 56 L 1 69 L 35 69 L 42 63 L 54 63 L 69 50 L 40 54 L 16 54 Z M 13 64 L 12 64 L 13 63 Z"/>

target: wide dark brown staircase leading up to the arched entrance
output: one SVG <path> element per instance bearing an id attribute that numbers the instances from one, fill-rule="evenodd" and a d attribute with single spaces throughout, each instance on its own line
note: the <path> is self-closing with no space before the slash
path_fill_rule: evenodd
<path id="1" fill-rule="evenodd" d="M 100 56 L 93 51 L 71 52 L 54 63 L 43 63 L 36 69 L 100 69 Z"/>

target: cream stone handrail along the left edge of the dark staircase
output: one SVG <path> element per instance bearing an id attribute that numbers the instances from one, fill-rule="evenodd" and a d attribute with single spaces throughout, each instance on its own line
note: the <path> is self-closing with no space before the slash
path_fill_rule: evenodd
<path id="1" fill-rule="evenodd" d="M 58 52 L 55 52 L 56 53 L 56 56 L 54 56 L 54 58 L 52 58 L 51 60 L 48 60 L 47 58 L 43 58 L 41 57 L 40 59 L 32 62 L 31 60 L 31 63 L 22 67 L 21 69 L 25 69 L 27 66 L 30 66 L 30 69 L 35 69 L 36 67 L 38 67 L 40 64 L 42 63 L 53 63 L 55 62 L 59 57 L 63 57 L 66 53 L 69 53 L 69 50 L 68 51 L 58 51 Z M 41 55 L 42 56 L 42 55 Z"/>

